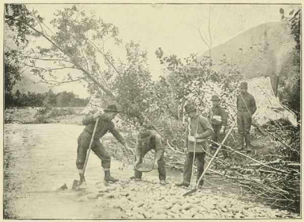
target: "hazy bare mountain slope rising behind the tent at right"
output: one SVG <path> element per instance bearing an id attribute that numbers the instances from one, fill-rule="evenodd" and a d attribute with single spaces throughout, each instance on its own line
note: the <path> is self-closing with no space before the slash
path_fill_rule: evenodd
<path id="1" fill-rule="evenodd" d="M 270 22 L 251 28 L 212 48 L 211 57 L 218 64 L 225 55 L 229 63 L 240 67 L 244 79 L 270 76 L 274 87 L 276 74 L 290 75 L 294 45 L 288 22 Z M 209 52 L 199 59 L 204 56 L 209 56 Z"/>

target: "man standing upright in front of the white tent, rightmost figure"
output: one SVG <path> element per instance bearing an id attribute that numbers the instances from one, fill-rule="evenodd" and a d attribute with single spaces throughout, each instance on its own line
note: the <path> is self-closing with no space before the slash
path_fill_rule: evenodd
<path id="1" fill-rule="evenodd" d="M 246 143 L 246 151 L 251 151 L 250 143 L 250 127 L 252 115 L 256 111 L 254 97 L 247 92 L 248 83 L 242 81 L 240 83 L 240 94 L 237 96 L 237 124 L 239 131 L 239 151 L 244 149 L 244 139 Z"/>

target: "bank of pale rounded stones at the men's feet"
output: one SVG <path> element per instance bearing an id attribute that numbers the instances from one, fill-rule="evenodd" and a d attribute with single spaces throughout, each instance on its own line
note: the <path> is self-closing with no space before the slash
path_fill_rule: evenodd
<path id="1" fill-rule="evenodd" d="M 84 199 L 102 199 L 111 208 L 122 211 L 119 218 L 153 219 L 215 219 L 215 218 L 280 218 L 299 217 L 288 211 L 280 211 L 261 204 L 243 202 L 236 196 L 222 197 L 210 190 L 199 190 L 192 196 L 182 195 L 189 189 L 166 186 L 157 181 L 124 180 L 116 184 L 96 184 L 96 192 Z"/>

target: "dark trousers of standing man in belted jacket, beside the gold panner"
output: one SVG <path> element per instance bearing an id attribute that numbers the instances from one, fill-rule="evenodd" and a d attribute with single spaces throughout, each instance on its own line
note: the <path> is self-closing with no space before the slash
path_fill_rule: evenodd
<path id="1" fill-rule="evenodd" d="M 184 162 L 184 172 L 183 172 L 183 181 L 186 183 L 190 183 L 192 176 L 192 165 L 193 165 L 193 155 L 194 152 L 188 152 L 186 154 L 185 162 Z M 195 160 L 197 160 L 197 181 L 202 175 L 204 171 L 204 163 L 205 163 L 205 152 L 195 153 Z M 201 181 L 201 185 L 203 184 L 203 180 Z"/>

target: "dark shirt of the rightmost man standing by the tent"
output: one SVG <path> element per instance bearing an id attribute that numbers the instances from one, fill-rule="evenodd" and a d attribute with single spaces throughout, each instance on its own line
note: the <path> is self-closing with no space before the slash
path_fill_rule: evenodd
<path id="1" fill-rule="evenodd" d="M 248 108 L 248 110 L 247 110 L 247 108 Z M 238 110 L 238 112 L 248 112 L 249 111 L 249 114 L 253 115 L 256 111 L 254 97 L 248 92 L 246 92 L 244 94 L 239 94 L 237 96 L 237 110 Z"/>

